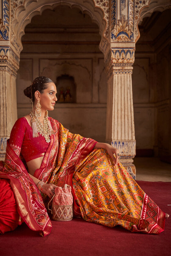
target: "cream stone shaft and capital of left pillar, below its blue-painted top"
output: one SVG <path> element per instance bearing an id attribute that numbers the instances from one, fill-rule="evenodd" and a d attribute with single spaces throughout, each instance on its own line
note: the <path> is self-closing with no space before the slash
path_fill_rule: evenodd
<path id="1" fill-rule="evenodd" d="M 17 119 L 16 71 L 18 68 L 19 58 L 10 46 L 0 46 L 0 160 L 5 158 L 6 141 Z"/>

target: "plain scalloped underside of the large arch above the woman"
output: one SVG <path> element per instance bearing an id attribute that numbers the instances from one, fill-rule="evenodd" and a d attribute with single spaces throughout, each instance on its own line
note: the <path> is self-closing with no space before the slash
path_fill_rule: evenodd
<path id="1" fill-rule="evenodd" d="M 13 20 L 13 27 L 11 33 L 11 43 L 17 49 L 18 53 L 23 49 L 21 43 L 21 37 L 24 35 L 24 28 L 31 22 L 32 17 L 35 15 L 41 15 L 45 9 L 54 9 L 59 5 L 69 6 L 70 8 L 78 8 L 82 13 L 88 14 L 92 21 L 95 22 L 99 27 L 99 33 L 101 35 L 101 41 L 99 48 L 105 53 L 107 45 L 109 44 L 108 39 L 104 36 L 107 22 L 104 19 L 104 12 L 100 7 L 96 7 L 93 0 L 53 0 L 47 1 L 39 0 L 24 1 L 24 5 L 17 7 L 15 11 L 15 19 Z"/>

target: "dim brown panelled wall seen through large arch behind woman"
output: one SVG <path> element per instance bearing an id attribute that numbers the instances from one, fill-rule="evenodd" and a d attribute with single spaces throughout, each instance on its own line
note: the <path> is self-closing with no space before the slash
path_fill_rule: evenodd
<path id="1" fill-rule="evenodd" d="M 30 99 L 22 95 L 36 76 L 48 76 L 57 85 L 59 77 L 72 77 L 75 102 L 59 101 L 49 115 L 73 133 L 105 142 L 107 78 L 100 40 L 99 27 L 78 7 L 61 5 L 35 15 L 22 37 L 16 79 L 18 118 L 23 111 L 30 112 Z M 64 80 L 57 90 L 61 87 Z"/>

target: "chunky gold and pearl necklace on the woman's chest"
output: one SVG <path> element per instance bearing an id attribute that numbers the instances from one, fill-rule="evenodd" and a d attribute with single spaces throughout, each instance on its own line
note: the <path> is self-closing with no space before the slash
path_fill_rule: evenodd
<path id="1" fill-rule="evenodd" d="M 39 132 L 39 134 L 41 134 L 43 137 L 45 137 L 45 141 L 47 143 L 50 142 L 50 135 L 51 135 L 51 131 L 49 129 L 49 126 L 48 126 L 48 122 L 47 122 L 47 119 L 48 119 L 48 115 L 44 117 L 43 119 L 43 124 L 41 123 L 41 121 L 38 119 L 38 117 L 36 117 L 33 112 L 31 111 L 30 112 L 30 116 L 31 116 L 31 122 L 32 122 L 32 126 L 34 124 L 36 124 L 36 127 L 37 127 L 37 132 Z M 37 135 L 33 135 L 33 137 L 38 137 L 38 134 Z"/>

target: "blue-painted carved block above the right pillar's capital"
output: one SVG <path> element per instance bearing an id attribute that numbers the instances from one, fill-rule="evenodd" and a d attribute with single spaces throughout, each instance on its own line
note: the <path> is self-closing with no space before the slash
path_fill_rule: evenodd
<path id="1" fill-rule="evenodd" d="M 111 0 L 111 42 L 137 42 L 140 37 L 138 21 L 141 11 L 150 3 L 159 5 L 158 0 Z"/>

